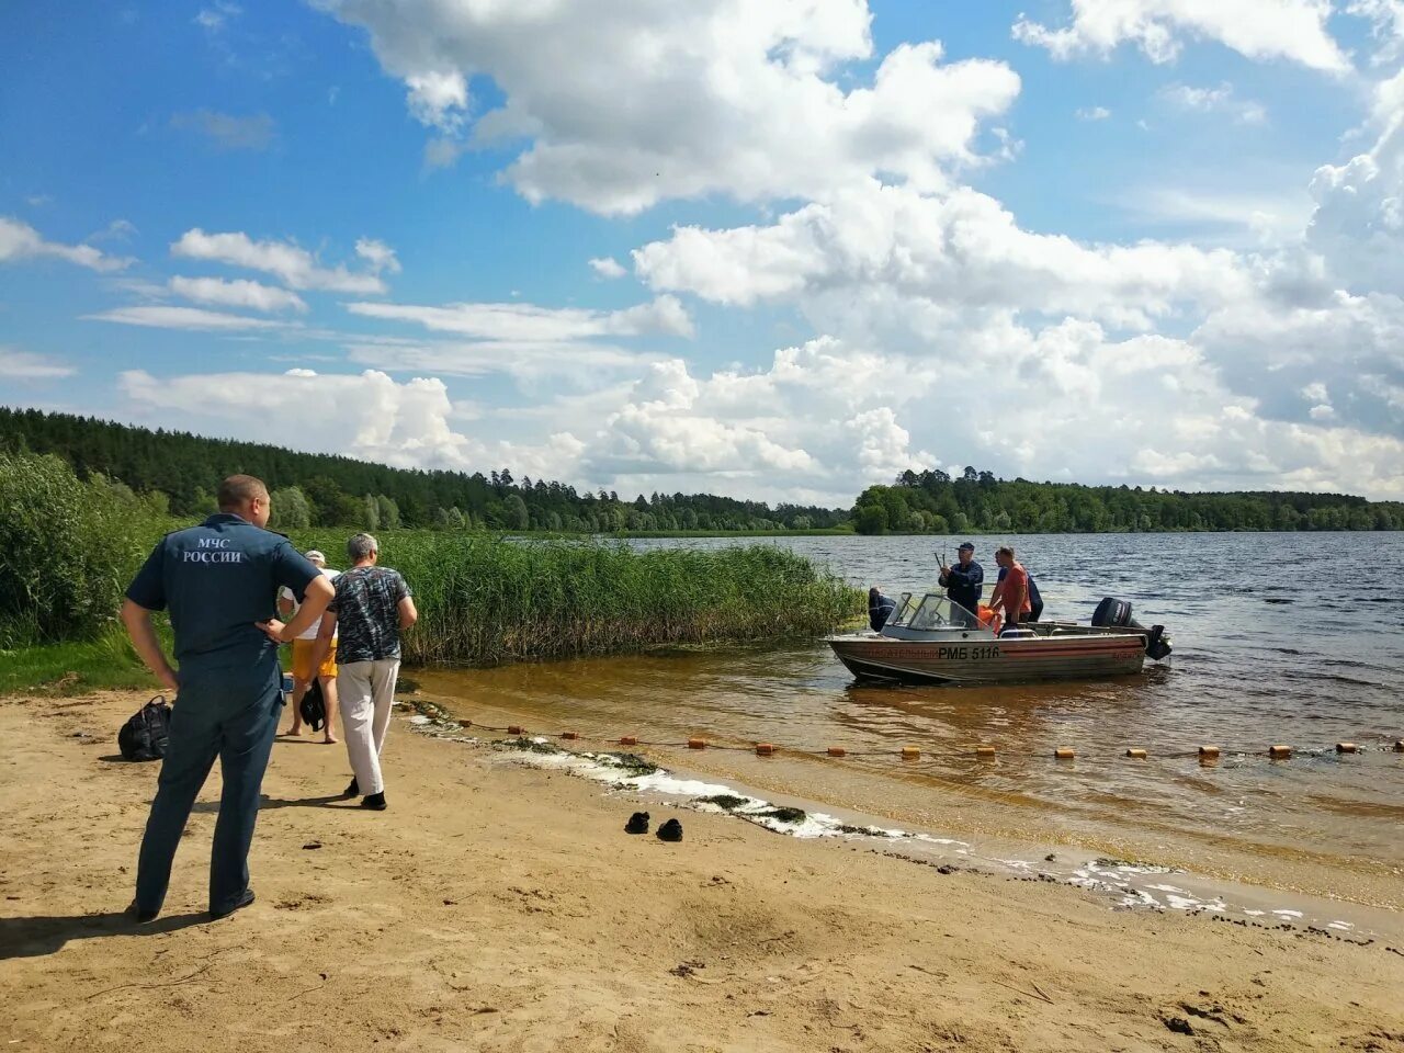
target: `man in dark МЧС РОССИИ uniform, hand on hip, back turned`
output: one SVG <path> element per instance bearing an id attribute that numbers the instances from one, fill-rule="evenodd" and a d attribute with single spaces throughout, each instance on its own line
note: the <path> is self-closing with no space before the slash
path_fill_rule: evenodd
<path id="1" fill-rule="evenodd" d="M 136 870 L 138 921 L 160 914 L 176 847 L 209 769 L 219 757 L 223 793 L 209 855 L 209 914 L 222 918 L 253 903 L 249 845 L 258 789 L 282 710 L 275 637 L 295 637 L 320 621 L 331 583 L 268 522 L 268 490 L 253 476 L 219 486 L 219 512 L 167 534 L 126 590 L 122 622 L 136 653 L 171 691 L 170 741 L 146 820 Z M 279 585 L 302 598 L 286 626 L 274 621 Z M 171 670 L 152 612 L 170 609 Z"/>

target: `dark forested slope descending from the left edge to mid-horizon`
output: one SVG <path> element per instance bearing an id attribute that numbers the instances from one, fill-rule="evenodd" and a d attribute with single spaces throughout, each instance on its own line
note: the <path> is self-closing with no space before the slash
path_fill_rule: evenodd
<path id="1" fill-rule="evenodd" d="M 0 451 L 56 453 L 80 475 L 101 473 L 135 493 L 164 500 L 176 517 L 215 507 L 219 482 L 236 472 L 272 491 L 272 525 L 362 529 L 463 528 L 496 531 L 776 531 L 824 529 L 848 519 L 840 508 L 739 501 L 715 494 L 639 494 L 483 475 L 389 468 L 352 458 L 299 453 L 183 431 L 135 428 L 94 417 L 0 407 Z"/>

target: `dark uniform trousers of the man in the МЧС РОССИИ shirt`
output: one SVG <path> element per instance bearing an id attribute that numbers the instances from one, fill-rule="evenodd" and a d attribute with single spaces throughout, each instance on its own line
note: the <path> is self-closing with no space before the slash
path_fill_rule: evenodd
<path id="1" fill-rule="evenodd" d="M 176 848 L 216 757 L 225 785 L 209 852 L 211 913 L 232 910 L 249 887 L 249 845 L 282 715 L 281 688 L 275 658 L 251 670 L 201 670 L 198 661 L 181 665 L 170 741 L 136 869 L 138 908 L 161 908 Z"/>

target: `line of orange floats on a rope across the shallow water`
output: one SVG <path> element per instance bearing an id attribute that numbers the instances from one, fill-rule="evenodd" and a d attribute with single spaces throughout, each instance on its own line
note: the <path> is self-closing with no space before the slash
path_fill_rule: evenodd
<path id="1" fill-rule="evenodd" d="M 413 702 L 416 709 L 427 716 L 432 716 L 439 720 L 452 720 L 461 727 L 472 727 L 482 731 L 500 731 L 503 734 L 512 734 L 518 737 L 545 737 L 539 733 L 528 731 L 521 724 L 507 724 L 505 727 L 498 727 L 496 724 L 483 724 L 476 720 L 466 720 L 452 716 L 444 708 L 434 705 L 432 702 Z M 425 712 L 428 710 L 428 712 Z M 564 741 L 585 741 L 585 743 L 604 743 L 607 746 L 647 746 L 653 748 L 668 748 L 668 750 L 722 750 L 724 753 L 754 753 L 758 757 L 775 757 L 779 754 L 803 755 L 803 757 L 831 757 L 831 758 L 847 758 L 847 757 L 899 757 L 904 761 L 920 761 L 922 757 L 929 758 L 973 758 L 979 761 L 994 761 L 998 760 L 1001 754 L 1004 755 L 1029 755 L 1028 751 L 1021 750 L 1007 750 L 995 747 L 990 743 L 962 743 L 956 747 L 943 748 L 927 748 L 921 746 L 903 746 L 896 750 L 849 750 L 842 746 L 826 746 L 823 748 L 806 747 L 806 746 L 779 746 L 776 743 L 762 743 L 757 741 L 751 746 L 730 746 L 724 743 L 715 743 L 709 739 L 689 737 L 681 741 L 656 741 L 651 739 L 640 739 L 639 736 L 625 734 L 618 739 L 601 739 L 598 736 L 587 736 L 580 731 L 560 731 L 555 737 Z M 1203 764 L 1213 764 L 1220 760 L 1271 760 L 1271 761 L 1290 761 L 1293 757 L 1327 757 L 1337 755 L 1344 757 L 1348 754 L 1365 754 L 1365 753 L 1396 753 L 1404 755 L 1404 739 L 1394 743 L 1377 743 L 1377 744 L 1360 744 L 1360 743 L 1335 743 L 1334 746 L 1316 747 L 1316 748 L 1299 748 L 1293 746 L 1268 746 L 1268 747 L 1251 747 L 1251 748 L 1237 748 L 1237 747 L 1221 747 L 1221 746 L 1200 746 L 1193 750 L 1155 750 L 1151 751 L 1146 747 L 1129 747 L 1125 753 L 1119 754 L 1119 760 L 1123 761 L 1150 761 L 1150 760 L 1167 760 L 1167 761 L 1182 761 L 1198 758 Z M 1060 746 L 1052 751 L 1052 758 L 1056 761 L 1075 761 L 1075 760 L 1106 760 L 1106 754 L 1080 754 L 1075 747 Z"/>

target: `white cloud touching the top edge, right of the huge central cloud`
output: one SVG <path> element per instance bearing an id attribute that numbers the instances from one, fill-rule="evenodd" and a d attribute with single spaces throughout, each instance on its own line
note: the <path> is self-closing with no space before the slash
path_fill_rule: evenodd
<path id="1" fill-rule="evenodd" d="M 1174 62 L 1189 38 L 1217 41 L 1250 59 L 1349 69 L 1327 29 L 1330 0 L 1071 0 L 1071 22 L 1057 29 L 1021 15 L 1014 38 L 1064 60 L 1134 44 L 1151 62 Z"/>

